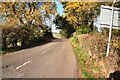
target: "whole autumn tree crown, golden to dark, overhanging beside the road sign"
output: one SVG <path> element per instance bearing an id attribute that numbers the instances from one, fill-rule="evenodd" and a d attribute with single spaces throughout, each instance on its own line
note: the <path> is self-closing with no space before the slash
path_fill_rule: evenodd
<path id="1" fill-rule="evenodd" d="M 94 20 L 100 13 L 100 6 L 102 4 L 111 5 L 111 2 L 65 2 L 64 12 L 67 20 L 70 24 L 74 24 L 74 27 L 81 28 L 88 27 L 93 30 Z M 82 27 L 84 25 L 84 27 Z"/>

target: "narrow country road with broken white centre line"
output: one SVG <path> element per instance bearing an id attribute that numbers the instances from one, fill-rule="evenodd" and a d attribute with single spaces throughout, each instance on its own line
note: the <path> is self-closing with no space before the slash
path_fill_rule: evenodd
<path id="1" fill-rule="evenodd" d="M 2 56 L 2 78 L 76 78 L 77 63 L 69 40 Z"/>

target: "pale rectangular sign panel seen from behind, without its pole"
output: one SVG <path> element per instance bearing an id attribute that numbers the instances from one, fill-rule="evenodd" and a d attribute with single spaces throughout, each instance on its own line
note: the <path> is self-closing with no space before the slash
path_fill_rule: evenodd
<path id="1" fill-rule="evenodd" d="M 114 9 L 112 29 L 120 29 L 120 8 L 101 6 L 100 26 L 110 28 L 112 8 Z"/>

